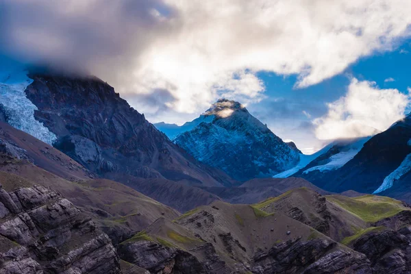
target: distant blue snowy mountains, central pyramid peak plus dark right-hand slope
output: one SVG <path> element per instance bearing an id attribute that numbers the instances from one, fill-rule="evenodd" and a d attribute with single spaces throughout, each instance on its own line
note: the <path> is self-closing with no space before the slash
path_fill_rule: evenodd
<path id="1" fill-rule="evenodd" d="M 312 155 L 284 143 L 240 103 L 225 99 L 180 127 L 155 126 L 201 162 L 238 180 L 302 177 L 330 192 L 381 193 L 411 202 L 411 114 L 385 132 L 336 140 Z"/>

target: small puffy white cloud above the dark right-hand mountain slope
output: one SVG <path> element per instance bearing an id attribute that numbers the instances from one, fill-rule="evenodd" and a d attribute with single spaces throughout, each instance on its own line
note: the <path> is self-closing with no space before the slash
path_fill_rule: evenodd
<path id="1" fill-rule="evenodd" d="M 345 97 L 328 104 L 325 116 L 314 119 L 320 140 L 356 138 L 384 131 L 404 117 L 410 97 L 397 89 L 379 89 L 375 82 L 351 79 Z"/>

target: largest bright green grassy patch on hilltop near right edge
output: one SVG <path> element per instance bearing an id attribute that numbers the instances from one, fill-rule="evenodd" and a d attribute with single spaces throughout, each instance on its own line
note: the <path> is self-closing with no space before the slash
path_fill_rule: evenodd
<path id="1" fill-rule="evenodd" d="M 327 196 L 327 200 L 370 223 L 394 216 L 403 210 L 408 210 L 401 201 L 375 195 L 364 195 L 355 198 L 330 195 Z"/>

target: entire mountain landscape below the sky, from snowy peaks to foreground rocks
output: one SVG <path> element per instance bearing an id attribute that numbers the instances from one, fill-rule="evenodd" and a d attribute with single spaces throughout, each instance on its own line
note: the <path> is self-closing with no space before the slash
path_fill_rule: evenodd
<path id="1" fill-rule="evenodd" d="M 382 196 L 408 199 L 408 117 L 303 155 L 235 101 L 169 138 L 95 77 L 0 82 L 0 273 L 411 271 Z"/>

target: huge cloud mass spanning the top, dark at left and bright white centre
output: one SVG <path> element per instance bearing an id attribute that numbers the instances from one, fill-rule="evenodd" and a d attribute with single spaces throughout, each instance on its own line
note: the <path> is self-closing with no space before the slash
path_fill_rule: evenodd
<path id="1" fill-rule="evenodd" d="M 297 87 L 319 83 L 394 49 L 411 23 L 411 2 L 402 0 L 30 2 L 3 7 L 2 37 L 16 54 L 73 62 L 122 95 L 169 90 L 175 100 L 164 109 L 188 114 L 222 95 L 260 100 L 257 71 L 297 74 Z"/>

